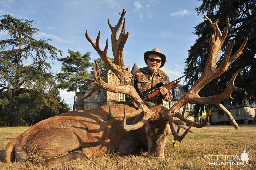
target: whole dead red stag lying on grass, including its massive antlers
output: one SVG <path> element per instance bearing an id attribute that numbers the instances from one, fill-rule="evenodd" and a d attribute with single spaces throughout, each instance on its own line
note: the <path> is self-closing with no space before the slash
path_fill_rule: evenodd
<path id="1" fill-rule="evenodd" d="M 115 27 L 111 26 L 108 19 L 108 24 L 112 31 L 113 63 L 107 56 L 108 39 L 102 51 L 99 46 L 100 32 L 94 43 L 86 31 L 87 40 L 92 44 L 105 64 L 115 73 L 120 84 L 118 86 L 112 86 L 102 81 L 100 69 L 95 60 L 95 79 L 91 81 L 96 86 L 83 99 L 92 95 L 97 89 L 106 89 L 114 93 L 128 94 L 139 106 L 138 110 L 122 104 L 111 104 L 92 110 L 63 113 L 42 120 L 8 143 L 4 152 L 5 162 L 10 162 L 11 160 L 27 160 L 29 159 L 29 153 L 39 153 L 40 156 L 46 159 L 52 158 L 50 161 L 82 160 L 109 154 L 113 151 L 119 154 L 140 152 L 142 147 L 148 150 L 147 155 L 153 155 L 155 158 L 164 160 L 164 146 L 170 133 L 172 133 L 175 139 L 181 142 L 192 126 L 201 128 L 208 123 L 210 112 L 208 112 L 203 123 L 195 123 L 179 114 L 178 110 L 181 107 L 185 107 L 186 104 L 192 102 L 218 106 L 227 115 L 234 127 L 238 129 L 234 118 L 220 104 L 220 101 L 231 97 L 232 91 L 243 90 L 234 87 L 235 78 L 242 69 L 238 70 L 231 78 L 227 89 L 223 93 L 216 96 L 200 97 L 198 92 L 211 80 L 220 76 L 239 57 L 248 37 L 232 57 L 230 56 L 234 42 L 228 43 L 225 58 L 220 67 L 216 68 L 220 48 L 228 34 L 229 21 L 227 21 L 225 31 L 222 35 L 218 28 L 218 22 L 213 24 L 205 16 L 210 22 L 214 33 L 210 38 L 209 56 L 201 77 L 180 101 L 174 104 L 169 110 L 159 105 L 148 108 L 135 91 L 125 71 L 122 52 L 129 35 L 128 32 L 125 33 L 125 13 L 126 11 L 123 10 Z M 122 25 L 123 19 L 124 23 L 117 39 L 117 32 Z M 185 109 L 183 110 L 185 111 Z M 103 120 L 107 119 L 108 116 L 112 119 L 104 122 Z M 182 121 L 190 126 L 187 128 Z M 175 130 L 175 124 L 185 128 L 186 131 L 182 135 L 179 135 Z"/>

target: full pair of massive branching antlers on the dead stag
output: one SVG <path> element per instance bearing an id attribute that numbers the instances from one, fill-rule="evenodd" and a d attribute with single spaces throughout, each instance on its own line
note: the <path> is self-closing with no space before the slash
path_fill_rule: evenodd
<path id="1" fill-rule="evenodd" d="M 92 46 L 98 52 L 98 54 L 103 59 L 105 64 L 108 66 L 108 68 L 113 73 L 115 73 L 115 75 L 118 77 L 120 84 L 117 86 L 112 86 L 112 85 L 109 85 L 109 84 L 105 83 L 104 81 L 102 81 L 102 79 L 100 77 L 100 69 L 99 69 L 97 61 L 95 60 L 96 69 L 93 70 L 94 74 L 95 74 L 95 79 L 93 79 L 93 80 L 90 79 L 90 81 L 93 81 L 93 83 L 95 83 L 96 86 L 88 94 L 85 94 L 85 96 L 82 99 L 89 97 L 97 89 L 106 89 L 106 90 L 114 92 L 114 93 L 124 93 L 124 94 L 129 95 L 130 97 L 132 97 L 132 99 L 138 105 L 139 108 L 137 111 L 132 112 L 132 113 L 124 112 L 124 113 L 119 113 L 119 114 L 113 114 L 110 109 L 109 114 L 113 118 L 123 118 L 124 129 L 135 130 L 135 129 L 141 128 L 148 120 L 154 119 L 155 116 L 158 117 L 159 113 L 157 113 L 157 115 L 156 115 L 156 110 L 148 109 L 148 107 L 141 100 L 140 96 L 137 94 L 128 74 L 126 73 L 124 61 L 123 61 L 123 48 L 124 48 L 124 44 L 128 38 L 129 33 L 127 32 L 125 34 L 125 19 L 124 19 L 125 13 L 126 13 L 126 11 L 123 9 L 123 12 L 121 13 L 121 17 L 115 27 L 111 26 L 110 21 L 108 19 L 108 25 L 112 32 L 111 44 L 112 44 L 112 51 L 113 51 L 113 56 L 114 56 L 113 63 L 109 60 L 109 58 L 107 56 L 108 39 L 106 40 L 106 46 L 105 46 L 104 50 L 102 51 L 102 50 L 100 50 L 100 46 L 99 46 L 100 32 L 97 35 L 96 43 L 94 43 L 93 40 L 89 37 L 87 31 L 86 31 L 86 35 L 85 35 L 87 40 L 92 44 Z M 221 94 L 215 95 L 215 96 L 209 96 L 209 97 L 200 97 L 198 95 L 198 92 L 207 83 L 209 83 L 210 81 L 212 81 L 213 79 L 215 79 L 216 77 L 219 77 L 222 73 L 224 73 L 224 71 L 228 68 L 228 66 L 230 64 L 232 64 L 240 56 L 240 54 L 242 53 L 242 50 L 247 42 L 248 37 L 245 39 L 245 41 L 242 44 L 242 46 L 240 47 L 240 49 L 232 57 L 230 57 L 230 56 L 231 56 L 231 51 L 232 51 L 234 42 L 228 43 L 225 57 L 220 65 L 220 67 L 216 68 L 216 62 L 217 62 L 217 58 L 220 53 L 221 46 L 224 43 L 224 40 L 228 34 L 229 21 L 227 19 L 226 28 L 222 35 L 220 32 L 220 29 L 218 28 L 218 22 L 213 24 L 212 21 L 207 16 L 205 16 L 205 18 L 211 24 L 211 26 L 214 30 L 214 33 L 211 35 L 211 38 L 210 38 L 209 55 L 208 55 L 208 59 L 207 59 L 206 65 L 205 65 L 204 72 L 202 73 L 201 77 L 195 82 L 195 84 L 188 90 L 188 92 L 180 99 L 179 102 L 174 104 L 172 106 L 172 108 L 170 108 L 168 111 L 166 111 L 166 110 L 161 111 L 161 114 L 160 114 L 162 120 L 166 120 L 169 122 L 172 135 L 179 142 L 181 142 L 182 139 L 187 135 L 188 131 L 190 130 L 190 128 L 192 126 L 197 127 L 197 128 L 204 127 L 208 123 L 208 120 L 209 120 L 210 111 L 208 112 L 206 119 L 203 123 L 195 123 L 191 120 L 188 120 L 187 118 L 185 118 L 178 112 L 178 110 L 182 106 L 184 106 L 188 103 L 192 103 L 192 102 L 199 103 L 199 104 L 214 104 L 214 105 L 216 105 L 227 115 L 228 120 L 232 123 L 232 125 L 236 129 L 238 129 L 238 125 L 237 125 L 236 121 L 234 120 L 233 116 L 223 105 L 220 104 L 220 102 L 224 101 L 228 98 L 232 98 L 231 97 L 232 91 L 243 90 L 241 88 L 234 87 L 235 78 L 243 68 L 241 68 L 240 70 L 238 70 L 235 73 L 235 75 L 229 81 L 228 87 Z M 123 19 L 124 19 L 123 27 L 121 29 L 119 38 L 117 39 L 117 32 L 122 25 Z M 142 113 L 144 115 L 141 120 L 135 121 L 134 123 L 132 123 L 132 125 L 126 124 L 127 117 L 137 116 L 140 113 Z M 190 124 L 189 128 L 182 135 L 178 135 L 178 133 L 175 130 L 174 120 L 176 120 L 177 118 Z"/>

